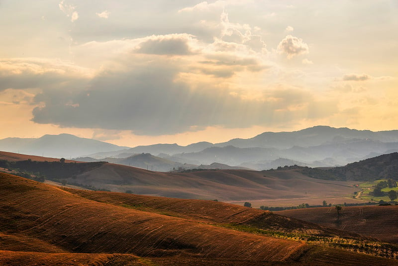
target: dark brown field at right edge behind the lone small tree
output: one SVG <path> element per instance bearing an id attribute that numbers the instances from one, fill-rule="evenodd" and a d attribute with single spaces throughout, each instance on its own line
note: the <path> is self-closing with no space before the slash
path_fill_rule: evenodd
<path id="1" fill-rule="evenodd" d="M 334 207 L 275 213 L 330 228 L 372 236 L 382 241 L 398 243 L 398 206 L 342 207 L 340 223 L 336 223 L 337 212 Z"/>

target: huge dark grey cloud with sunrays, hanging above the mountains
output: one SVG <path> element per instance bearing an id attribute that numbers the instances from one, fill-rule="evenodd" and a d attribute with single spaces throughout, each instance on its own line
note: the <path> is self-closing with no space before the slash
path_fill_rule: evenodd
<path id="1" fill-rule="evenodd" d="M 203 79 L 195 83 L 179 80 L 185 67 L 167 58 L 139 66 L 136 61 L 132 56 L 121 70 L 103 69 L 85 89 L 44 90 L 35 97 L 38 106 L 33 110 L 32 121 L 162 135 L 208 126 L 283 124 L 324 107 L 310 92 L 301 89 L 279 86 L 256 96 Z M 329 108 L 316 116 L 334 111 Z"/>

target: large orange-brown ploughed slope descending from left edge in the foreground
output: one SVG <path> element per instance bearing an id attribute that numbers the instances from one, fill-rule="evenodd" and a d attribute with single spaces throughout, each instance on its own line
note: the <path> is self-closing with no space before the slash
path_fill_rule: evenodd
<path id="1" fill-rule="evenodd" d="M 16 176 L 0 177 L 0 210 L 8 210 L 0 229 L 70 252 L 284 261 L 306 246 L 98 203 Z"/>

